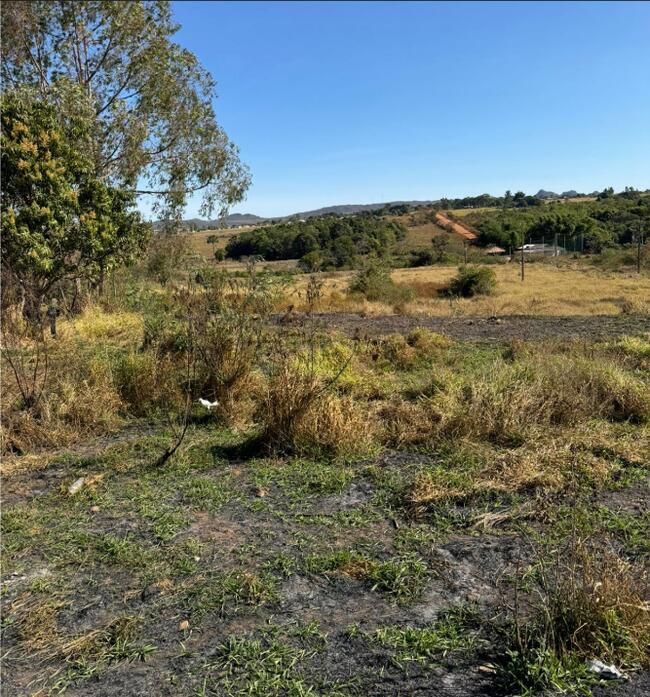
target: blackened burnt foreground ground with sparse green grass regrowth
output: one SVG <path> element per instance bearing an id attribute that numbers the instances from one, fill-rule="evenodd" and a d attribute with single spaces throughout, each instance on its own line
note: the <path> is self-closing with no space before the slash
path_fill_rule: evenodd
<path id="1" fill-rule="evenodd" d="M 3 695 L 516 694 L 493 672 L 494 623 L 532 535 L 575 496 L 414 519 L 401 482 L 434 455 L 241 460 L 215 448 L 224 439 L 195 431 L 182 460 L 152 471 L 165 438 L 134 435 L 7 479 Z M 70 496 L 78 476 L 91 483 Z M 579 503 L 606 507 L 621 546 L 645 554 L 647 480 Z M 378 639 L 407 627 L 430 632 L 426 650 Z M 595 694 L 650 694 L 648 673 Z"/>

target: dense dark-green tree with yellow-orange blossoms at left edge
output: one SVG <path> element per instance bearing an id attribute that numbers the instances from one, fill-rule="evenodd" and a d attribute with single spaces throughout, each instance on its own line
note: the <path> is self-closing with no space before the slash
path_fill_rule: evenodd
<path id="1" fill-rule="evenodd" d="M 23 92 L 2 102 L 2 266 L 39 315 L 50 289 L 66 279 L 101 282 L 149 238 L 135 197 L 94 176 L 82 118 L 58 122 L 53 106 Z M 82 146 L 78 146 L 81 143 Z"/>

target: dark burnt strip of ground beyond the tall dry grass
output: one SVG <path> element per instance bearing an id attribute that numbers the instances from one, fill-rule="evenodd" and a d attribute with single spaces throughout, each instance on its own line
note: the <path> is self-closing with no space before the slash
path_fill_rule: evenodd
<path id="1" fill-rule="evenodd" d="M 295 315 L 295 318 L 298 317 L 299 315 Z M 317 313 L 314 315 L 314 319 L 323 329 L 334 329 L 349 336 L 359 337 L 406 333 L 417 328 L 429 329 L 454 339 L 490 342 L 513 339 L 526 341 L 542 339 L 595 340 L 650 332 L 650 317 L 644 315 L 567 317 L 511 315 L 482 318 Z M 278 317 L 277 321 L 281 322 L 282 318 Z"/>

